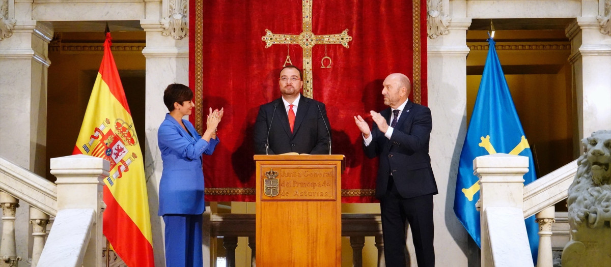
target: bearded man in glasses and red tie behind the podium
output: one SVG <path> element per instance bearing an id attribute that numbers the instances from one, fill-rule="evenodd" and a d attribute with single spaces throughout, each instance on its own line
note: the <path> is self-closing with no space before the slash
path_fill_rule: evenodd
<path id="1" fill-rule="evenodd" d="M 280 71 L 282 97 L 259 107 L 255 122 L 255 154 L 331 154 L 331 126 L 324 104 L 301 95 L 301 70 Z"/>

